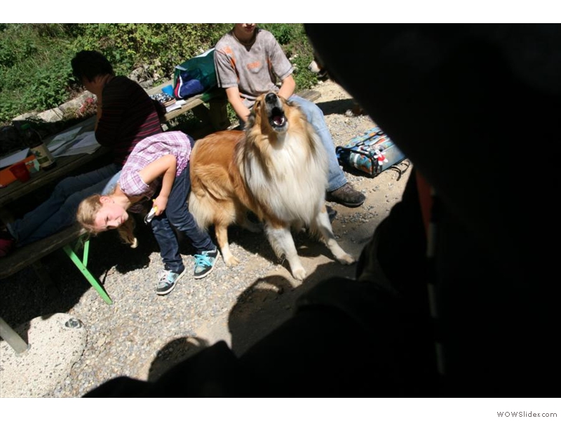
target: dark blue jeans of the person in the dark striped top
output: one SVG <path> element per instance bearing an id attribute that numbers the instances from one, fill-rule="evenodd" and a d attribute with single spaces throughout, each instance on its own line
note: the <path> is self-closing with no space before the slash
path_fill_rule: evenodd
<path id="1" fill-rule="evenodd" d="M 80 202 L 92 194 L 101 193 L 107 182 L 120 170 L 119 164 L 111 163 L 59 182 L 46 201 L 26 213 L 22 219 L 8 224 L 16 244 L 25 246 L 72 225 Z"/>

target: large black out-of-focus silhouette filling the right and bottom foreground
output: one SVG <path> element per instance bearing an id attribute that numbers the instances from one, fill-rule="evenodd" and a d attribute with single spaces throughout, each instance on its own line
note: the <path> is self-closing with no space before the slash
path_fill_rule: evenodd
<path id="1" fill-rule="evenodd" d="M 416 170 L 357 281 L 323 281 L 240 358 L 219 342 L 86 396 L 556 396 L 561 26 L 306 31 Z"/>

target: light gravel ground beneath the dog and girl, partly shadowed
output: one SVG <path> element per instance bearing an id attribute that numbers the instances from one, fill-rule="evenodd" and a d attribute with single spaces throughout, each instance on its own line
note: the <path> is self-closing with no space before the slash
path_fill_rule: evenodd
<path id="1" fill-rule="evenodd" d="M 367 116 L 346 116 L 353 105 L 349 95 L 331 81 L 316 88 L 318 105 L 336 145 L 372 127 Z M 347 174 L 367 195 L 356 209 L 334 205 L 333 222 L 341 246 L 358 258 L 377 224 L 400 199 L 410 171 L 386 171 L 377 178 Z M 140 246 L 133 250 L 105 233 L 90 242 L 90 270 L 104 283 L 114 305 L 106 305 L 83 279 L 62 250 L 45 265 L 53 279 L 46 284 L 25 269 L 0 281 L 1 316 L 18 326 L 37 316 L 67 313 L 86 326 L 83 355 L 65 380 L 45 396 L 82 396 L 113 377 L 127 375 L 154 380 L 173 363 L 217 340 L 226 340 L 236 354 L 278 326 L 292 313 L 295 299 L 328 276 L 353 277 L 355 265 L 334 262 L 323 244 L 305 234 L 295 237 L 299 255 L 309 273 L 304 282 L 290 276 L 287 262 L 278 260 L 263 234 L 230 229 L 231 250 L 241 261 L 227 268 L 220 260 L 205 279 L 184 277 L 163 297 L 154 293 L 162 269 L 156 241 L 149 229 L 137 229 Z M 184 241 L 182 254 L 187 274 L 194 268 L 193 250 Z"/>

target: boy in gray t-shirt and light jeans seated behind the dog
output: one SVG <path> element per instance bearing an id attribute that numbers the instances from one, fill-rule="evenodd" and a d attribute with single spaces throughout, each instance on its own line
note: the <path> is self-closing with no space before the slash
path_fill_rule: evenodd
<path id="1" fill-rule="evenodd" d="M 349 185 L 339 167 L 323 112 L 313 102 L 294 95 L 294 68 L 273 34 L 259 29 L 255 23 L 236 23 L 234 29 L 217 42 L 215 50 L 218 86 L 226 89 L 228 101 L 241 121 L 248 121 L 255 98 L 262 93 L 273 91 L 296 102 L 327 150 L 329 184 L 325 198 L 349 208 L 362 205 L 364 194 Z M 282 81 L 280 88 L 276 86 L 276 78 Z"/>

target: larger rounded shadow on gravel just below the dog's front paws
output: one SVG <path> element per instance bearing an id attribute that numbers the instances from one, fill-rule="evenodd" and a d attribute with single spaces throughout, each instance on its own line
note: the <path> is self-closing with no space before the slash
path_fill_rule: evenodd
<path id="1" fill-rule="evenodd" d="M 354 271 L 354 267 L 351 270 Z M 297 288 L 280 275 L 257 279 L 239 295 L 229 315 L 228 328 L 234 354 L 240 356 L 287 321 L 296 310 L 297 299 L 318 283 L 333 276 L 346 277 L 348 274 L 348 266 L 330 262 L 319 265 Z"/>

